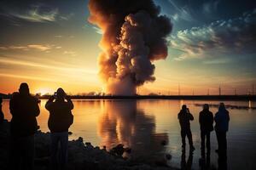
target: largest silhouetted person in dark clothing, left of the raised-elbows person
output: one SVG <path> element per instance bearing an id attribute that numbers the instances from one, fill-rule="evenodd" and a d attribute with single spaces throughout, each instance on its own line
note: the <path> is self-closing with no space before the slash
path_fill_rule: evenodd
<path id="1" fill-rule="evenodd" d="M 19 93 L 14 93 L 9 101 L 12 115 L 11 133 L 11 169 L 33 169 L 34 133 L 38 130 L 36 116 L 39 115 L 38 99 L 29 94 L 26 82 L 20 84 Z"/>

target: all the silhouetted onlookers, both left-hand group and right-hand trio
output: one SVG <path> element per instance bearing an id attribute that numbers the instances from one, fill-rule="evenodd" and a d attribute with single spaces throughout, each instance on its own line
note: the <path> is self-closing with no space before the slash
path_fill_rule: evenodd
<path id="1" fill-rule="evenodd" d="M 0 123 L 2 123 L 2 99 L 0 99 L 0 106 Z M 72 100 L 62 88 L 58 88 L 56 93 L 50 96 L 46 102 L 45 108 L 49 111 L 48 127 L 51 139 L 50 164 L 52 169 L 62 170 L 67 167 L 68 128 L 73 124 L 73 107 Z M 25 82 L 20 84 L 19 92 L 12 95 L 9 101 L 9 110 L 12 115 L 10 122 L 10 167 L 13 170 L 31 170 L 33 169 L 35 153 L 34 134 L 38 131 L 36 117 L 40 114 L 40 110 L 38 99 L 30 94 L 29 87 Z M 189 108 L 183 105 L 177 117 L 181 127 L 182 165 L 187 168 L 186 166 L 192 164 L 193 156 L 191 153 L 195 150 L 190 130 L 190 121 L 194 120 L 194 116 L 190 113 Z M 207 140 L 207 153 L 210 153 L 213 121 L 215 121 L 215 132 L 218 139 L 218 150 L 216 152 L 219 156 L 226 157 L 226 133 L 229 129 L 230 116 L 224 103 L 220 103 L 218 112 L 214 117 L 212 112 L 209 111 L 209 105 L 203 105 L 203 110 L 199 115 L 201 153 L 205 153 L 205 140 Z M 189 139 L 190 150 L 187 163 L 185 161 L 186 137 Z M 59 144 L 61 145 L 60 150 L 58 150 Z"/>

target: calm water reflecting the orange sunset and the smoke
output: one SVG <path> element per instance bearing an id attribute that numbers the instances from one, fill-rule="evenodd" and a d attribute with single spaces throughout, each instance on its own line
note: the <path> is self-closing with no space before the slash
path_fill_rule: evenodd
<path id="1" fill-rule="evenodd" d="M 38 116 L 38 125 L 41 130 L 48 132 L 48 111 L 44 109 L 46 100 L 40 104 L 41 114 Z M 168 164 L 180 167 L 182 161 L 180 127 L 177 121 L 177 112 L 181 105 L 186 104 L 195 116 L 191 122 L 191 131 L 195 143 L 192 156 L 192 169 L 199 169 L 200 128 L 198 123 L 201 106 L 198 104 L 218 104 L 219 101 L 192 101 L 192 100 L 73 100 L 74 123 L 70 128 L 73 135 L 70 139 L 79 136 L 93 145 L 111 148 L 116 144 L 125 144 L 131 147 L 131 156 L 137 159 L 161 159 L 171 154 Z M 255 102 L 226 101 L 228 105 L 256 106 Z M 210 108 L 213 113 L 218 108 Z M 256 110 L 230 111 L 230 131 L 228 139 L 228 169 L 256 169 Z M 10 120 L 9 100 L 3 100 L 5 118 Z M 167 144 L 161 145 L 165 140 Z M 188 143 L 188 142 L 187 142 Z M 217 140 L 214 132 L 211 134 L 212 152 L 211 167 L 218 167 Z M 187 150 L 187 152 L 189 152 Z M 186 155 L 186 160 L 189 153 Z M 191 158 L 191 156 L 190 156 Z"/>

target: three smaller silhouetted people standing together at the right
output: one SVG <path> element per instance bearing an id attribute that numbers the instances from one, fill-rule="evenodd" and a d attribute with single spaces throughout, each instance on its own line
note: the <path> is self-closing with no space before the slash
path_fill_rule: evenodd
<path id="1" fill-rule="evenodd" d="M 186 147 L 186 137 L 189 140 L 189 157 L 191 161 L 192 152 L 195 150 L 192 133 L 190 129 L 190 121 L 194 120 L 194 116 L 187 108 L 187 105 L 182 106 L 182 110 L 178 113 L 177 118 L 180 123 L 181 127 L 181 137 L 182 137 L 182 149 L 183 149 L 183 156 L 182 162 L 184 161 L 185 157 L 185 147 Z M 202 161 L 205 159 L 205 144 L 207 139 L 207 160 L 210 156 L 211 151 L 211 132 L 213 131 L 213 122 L 215 121 L 215 132 L 218 140 L 218 150 L 215 150 L 218 153 L 218 161 L 226 161 L 226 151 L 227 151 L 227 139 L 226 133 L 229 130 L 229 122 L 230 116 L 229 111 L 225 109 L 224 103 L 220 103 L 218 107 L 218 112 L 213 117 L 211 111 L 209 111 L 209 105 L 203 105 L 203 110 L 199 114 L 199 123 L 201 129 L 201 158 Z M 189 162 L 187 162 L 188 165 Z M 185 161 L 184 161 L 185 162 Z M 182 164 L 183 165 L 183 164 Z M 219 162 L 219 166 L 224 165 L 224 163 Z M 183 166 L 182 166 L 183 167 Z M 185 168 L 186 169 L 186 168 Z M 226 169 L 225 167 L 220 169 Z"/>

